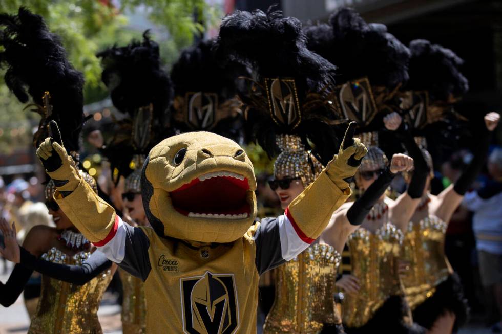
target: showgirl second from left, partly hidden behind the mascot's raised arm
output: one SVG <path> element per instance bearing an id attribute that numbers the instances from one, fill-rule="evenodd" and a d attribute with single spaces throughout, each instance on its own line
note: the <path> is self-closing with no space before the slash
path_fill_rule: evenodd
<path id="1" fill-rule="evenodd" d="M 149 226 L 141 198 L 141 167 L 150 149 L 168 135 L 172 84 L 162 69 L 158 44 L 150 39 L 132 41 L 125 47 L 112 47 L 97 54 L 102 58 L 102 80 L 110 89 L 114 107 L 126 118 L 117 122 L 110 143 L 102 152 L 116 180 L 126 176 L 122 198 L 132 226 Z M 143 281 L 119 269 L 123 286 L 122 331 L 141 334 L 146 328 Z"/>

